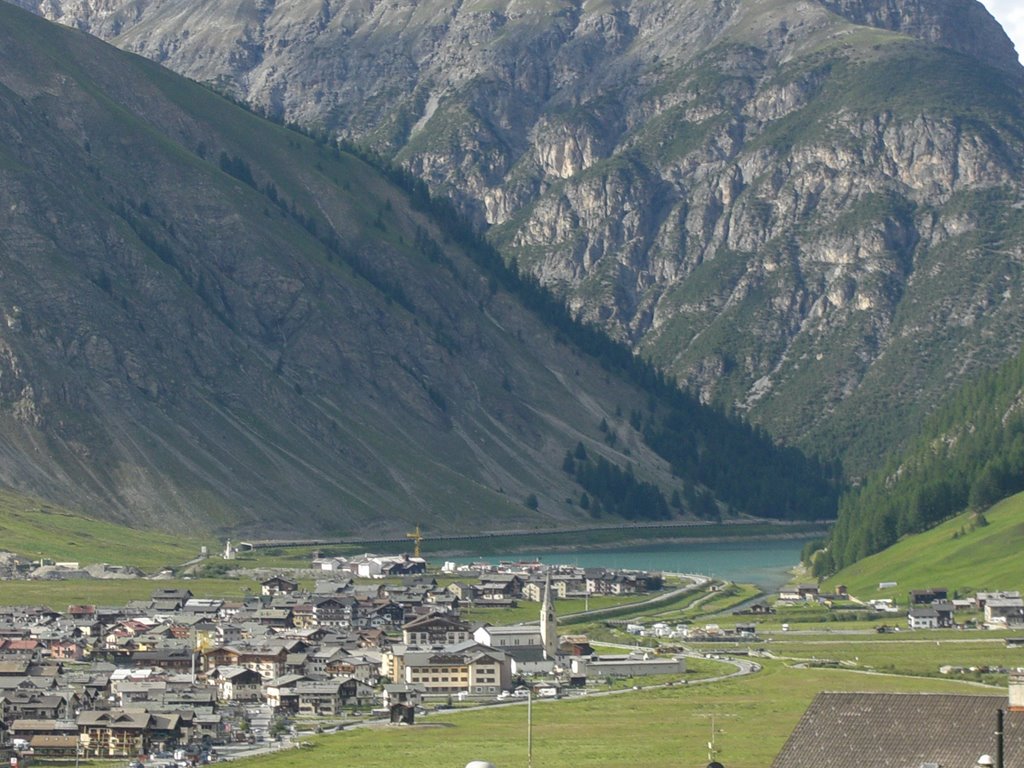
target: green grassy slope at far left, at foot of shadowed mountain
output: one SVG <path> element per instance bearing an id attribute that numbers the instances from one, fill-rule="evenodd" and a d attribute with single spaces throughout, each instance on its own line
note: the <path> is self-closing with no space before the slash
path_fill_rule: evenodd
<path id="1" fill-rule="evenodd" d="M 0 489 L 0 550 L 32 559 L 134 565 L 144 571 L 179 565 L 202 542 L 93 520 L 38 499 Z"/>

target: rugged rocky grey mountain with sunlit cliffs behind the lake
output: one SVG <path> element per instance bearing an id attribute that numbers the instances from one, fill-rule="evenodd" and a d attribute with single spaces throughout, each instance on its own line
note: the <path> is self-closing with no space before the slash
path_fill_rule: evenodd
<path id="1" fill-rule="evenodd" d="M 19 2 L 372 145 L 855 476 L 1024 340 L 1024 71 L 976 0 Z"/>

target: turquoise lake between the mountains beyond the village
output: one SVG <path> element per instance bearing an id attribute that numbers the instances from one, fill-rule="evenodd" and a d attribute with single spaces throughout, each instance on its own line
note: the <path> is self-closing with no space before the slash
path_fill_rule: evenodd
<path id="1" fill-rule="evenodd" d="M 454 557 L 454 562 L 540 560 L 584 567 L 636 568 L 705 573 L 718 579 L 756 584 L 772 592 L 790 581 L 790 570 L 800 563 L 804 539 L 664 544 L 600 550 L 521 552 L 514 555 Z"/>

